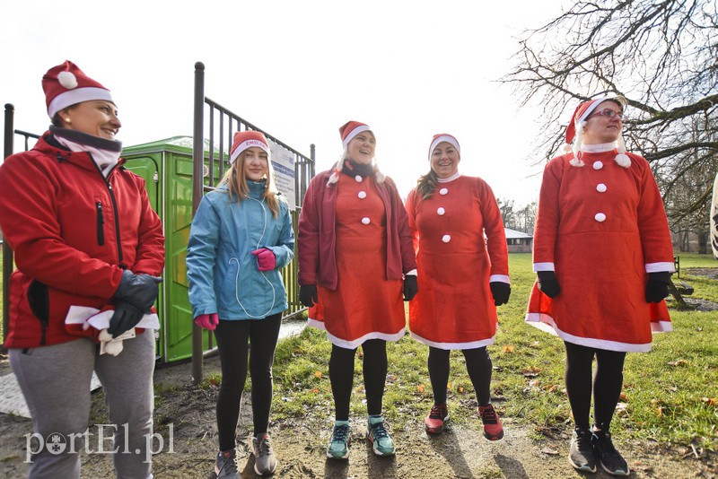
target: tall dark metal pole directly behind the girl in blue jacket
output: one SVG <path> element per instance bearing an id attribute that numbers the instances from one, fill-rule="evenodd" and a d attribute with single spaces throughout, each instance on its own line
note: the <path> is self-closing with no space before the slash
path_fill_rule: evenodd
<path id="1" fill-rule="evenodd" d="M 192 216 L 204 195 L 205 139 L 203 124 L 205 113 L 205 65 L 195 64 L 195 119 L 192 143 Z M 192 321 L 192 383 L 197 386 L 202 381 L 202 328 Z"/>

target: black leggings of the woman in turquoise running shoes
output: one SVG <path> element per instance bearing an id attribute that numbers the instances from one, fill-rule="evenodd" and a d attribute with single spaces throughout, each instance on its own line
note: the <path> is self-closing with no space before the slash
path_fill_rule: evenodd
<path id="1" fill-rule="evenodd" d="M 366 412 L 381 414 L 381 399 L 387 379 L 387 343 L 382 339 L 370 339 L 362 344 Z M 334 396 L 334 418 L 349 420 L 349 402 L 354 385 L 354 357 L 356 349 L 345 349 L 332 344 L 329 358 L 329 381 Z"/>

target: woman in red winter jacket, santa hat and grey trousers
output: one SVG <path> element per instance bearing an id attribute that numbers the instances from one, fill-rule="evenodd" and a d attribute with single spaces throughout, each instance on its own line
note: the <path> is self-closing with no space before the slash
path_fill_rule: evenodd
<path id="1" fill-rule="evenodd" d="M 119 158 L 109 91 L 69 61 L 50 68 L 42 87 L 52 126 L 0 167 L 0 227 L 17 263 L 4 345 L 34 433 L 45 444 L 66 440 L 60 454 L 33 453 L 29 477 L 80 477 L 75 451 L 93 370 L 117 426 L 118 476 L 151 477 L 154 335 L 139 327 L 159 327 L 149 313 L 164 266 L 162 223 L 144 180 Z M 122 347 L 98 345 L 96 327 L 125 338 Z"/>

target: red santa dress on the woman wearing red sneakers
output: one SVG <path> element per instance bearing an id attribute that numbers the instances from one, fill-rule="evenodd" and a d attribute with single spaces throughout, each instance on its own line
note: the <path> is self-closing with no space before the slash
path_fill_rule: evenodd
<path id="1" fill-rule="evenodd" d="M 412 190 L 407 213 L 419 286 L 409 303 L 412 337 L 446 350 L 493 344 L 498 318 L 489 282 L 509 283 L 509 265 L 491 188 L 459 176 L 424 200 Z"/>

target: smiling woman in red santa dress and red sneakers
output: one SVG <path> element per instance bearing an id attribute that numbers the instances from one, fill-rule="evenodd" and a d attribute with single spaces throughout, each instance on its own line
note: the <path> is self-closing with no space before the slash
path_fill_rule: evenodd
<path id="1" fill-rule="evenodd" d="M 491 405 L 493 365 L 486 346 L 494 343 L 496 306 L 511 294 L 506 236 L 491 187 L 483 179 L 462 176 L 460 160 L 454 136 L 434 135 L 429 172 L 407 198 L 419 273 L 419 292 L 409 303 L 409 329 L 429 346 L 433 406 L 426 431 L 439 434 L 449 420 L 449 355 L 459 349 L 477 392 L 484 436 L 500 440 L 503 427 Z"/>

